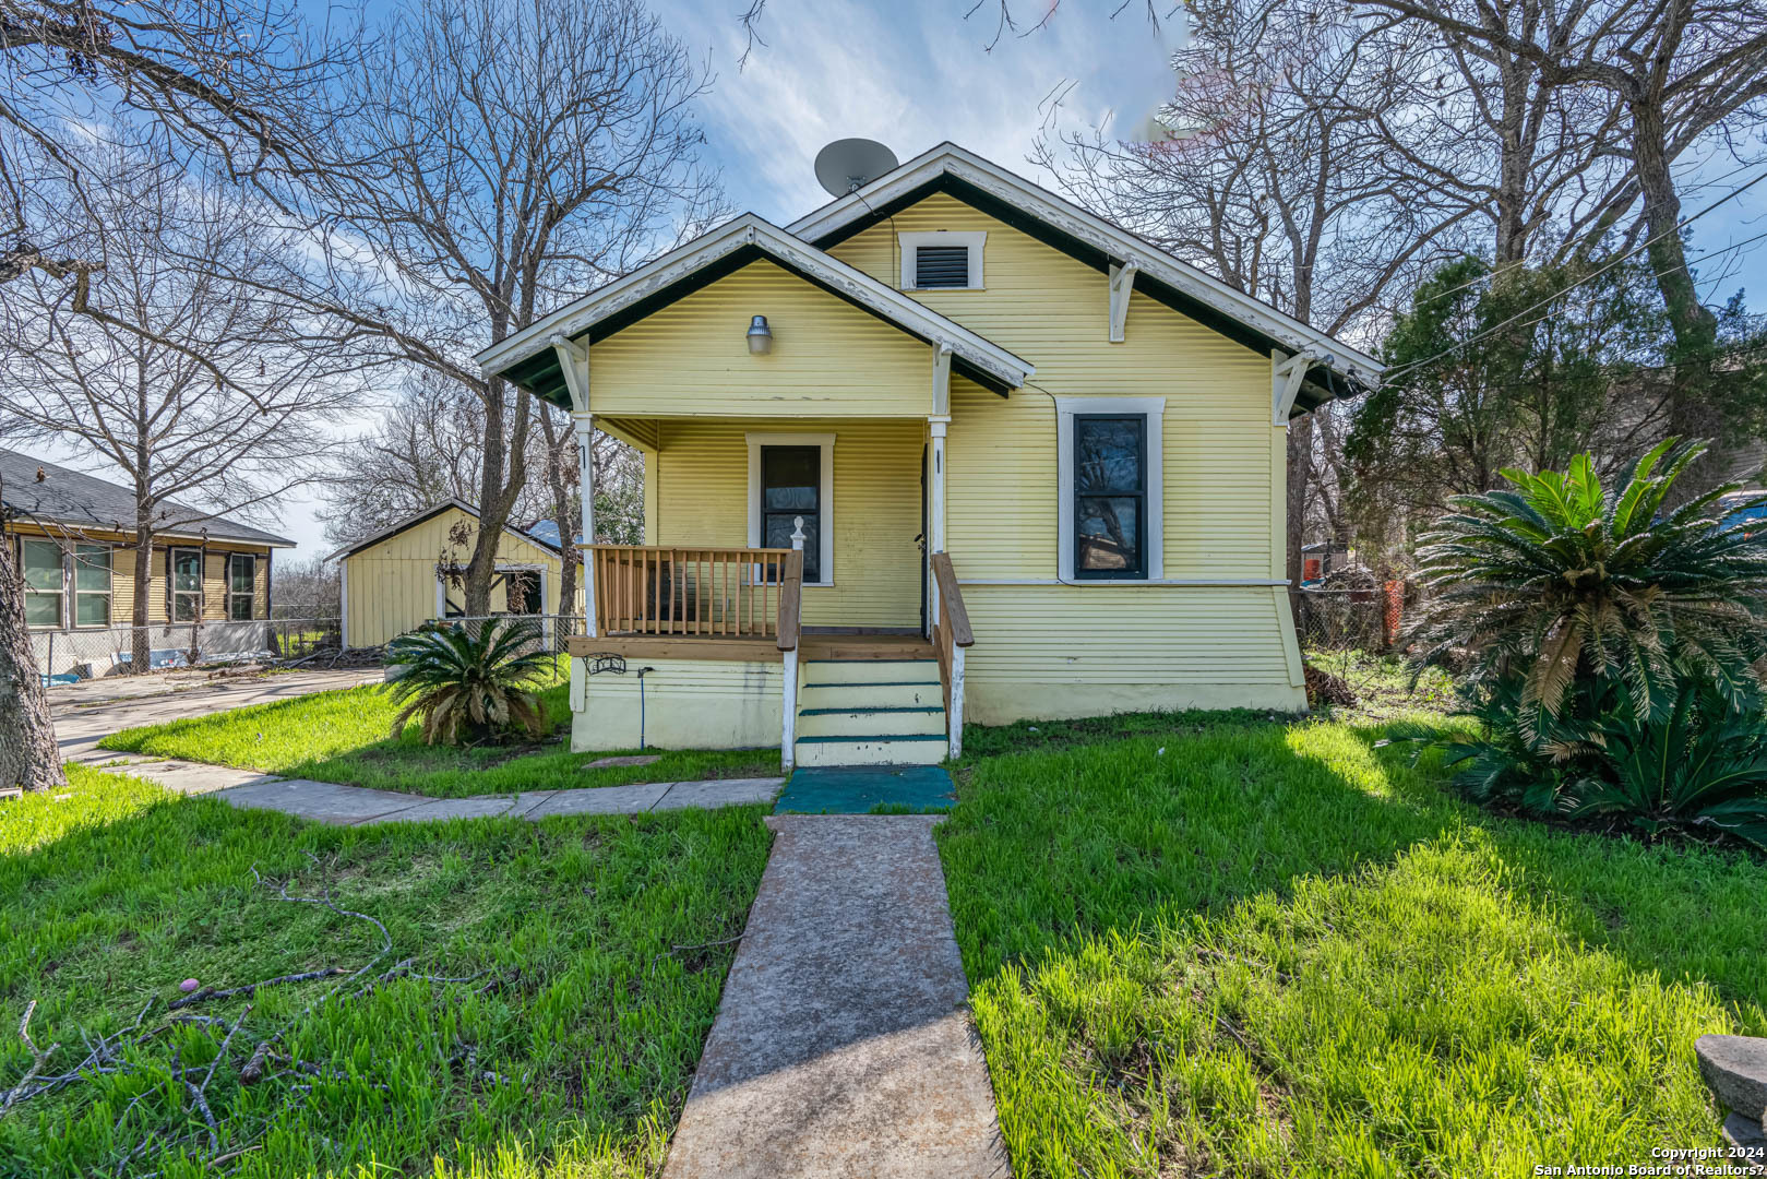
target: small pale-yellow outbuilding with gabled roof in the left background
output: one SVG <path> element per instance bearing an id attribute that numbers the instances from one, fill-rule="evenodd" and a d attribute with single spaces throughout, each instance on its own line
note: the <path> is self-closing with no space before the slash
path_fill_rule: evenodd
<path id="1" fill-rule="evenodd" d="M 459 574 L 477 530 L 477 509 L 445 500 L 332 553 L 330 560 L 343 562 L 343 645 L 378 647 L 431 619 L 461 617 Z M 550 536 L 558 536 L 557 527 Z M 504 529 L 491 613 L 580 612 L 581 590 L 567 610 L 558 608 L 562 580 L 564 555 L 553 539 Z"/>

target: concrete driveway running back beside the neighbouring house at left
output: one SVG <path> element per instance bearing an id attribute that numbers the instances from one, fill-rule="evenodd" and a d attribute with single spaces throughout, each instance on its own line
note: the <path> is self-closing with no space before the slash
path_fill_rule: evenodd
<path id="1" fill-rule="evenodd" d="M 274 672 L 205 682 L 171 681 L 164 682 L 163 691 L 157 693 L 150 691 L 154 679 L 120 681 L 115 691 L 80 691 L 80 688 L 87 688 L 81 684 L 67 689 L 51 688 L 49 714 L 55 718 L 55 737 L 62 757 L 71 762 L 90 762 L 110 757 L 97 748 L 97 742 L 124 728 L 177 721 L 186 716 L 209 716 L 249 704 L 293 700 L 334 688 L 376 684 L 380 677 L 380 668 Z M 104 681 L 97 681 L 90 688 L 101 689 Z"/>

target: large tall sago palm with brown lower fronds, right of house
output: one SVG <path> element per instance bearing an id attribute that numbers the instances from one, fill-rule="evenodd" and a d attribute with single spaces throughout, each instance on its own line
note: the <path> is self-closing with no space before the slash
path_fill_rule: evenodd
<path id="1" fill-rule="evenodd" d="M 1511 488 L 1454 497 L 1419 550 L 1431 601 L 1408 638 L 1421 659 L 1467 650 L 1474 686 L 1520 675 L 1525 734 L 1541 711 L 1558 716 L 1580 672 L 1617 679 L 1647 721 L 1673 707 L 1677 672 L 1710 679 L 1735 707 L 1755 700 L 1767 536 L 1719 520 L 1737 484 L 1663 507 L 1702 453 L 1670 438 L 1612 490 L 1580 454 L 1569 472 L 1504 470 Z"/>

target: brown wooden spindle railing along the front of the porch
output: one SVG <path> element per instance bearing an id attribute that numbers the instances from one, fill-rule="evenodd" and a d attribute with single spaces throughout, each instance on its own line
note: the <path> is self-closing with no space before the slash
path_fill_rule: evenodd
<path id="1" fill-rule="evenodd" d="M 779 633 L 790 548 L 587 548 L 595 578 L 595 635 Z M 797 557 L 802 566 L 804 555 Z"/>

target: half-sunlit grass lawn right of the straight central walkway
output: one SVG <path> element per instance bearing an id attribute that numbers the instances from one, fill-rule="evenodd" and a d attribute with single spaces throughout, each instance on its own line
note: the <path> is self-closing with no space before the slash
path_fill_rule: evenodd
<path id="1" fill-rule="evenodd" d="M 967 735 L 938 841 L 1020 1177 L 1525 1175 L 1718 1145 L 1767 866 L 1493 817 L 1440 716 Z M 1391 744 L 1389 744 L 1391 741 Z"/>

